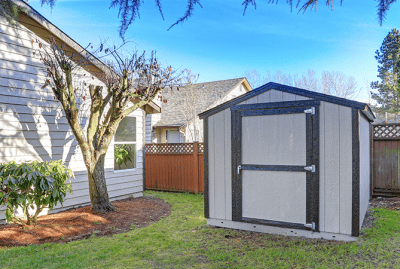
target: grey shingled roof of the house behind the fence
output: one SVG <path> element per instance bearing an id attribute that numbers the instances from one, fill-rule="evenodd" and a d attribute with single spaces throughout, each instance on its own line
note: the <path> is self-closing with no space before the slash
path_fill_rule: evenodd
<path id="1" fill-rule="evenodd" d="M 228 80 L 219 80 L 204 82 L 179 87 L 179 90 L 173 89 L 163 93 L 161 120 L 155 124 L 155 128 L 161 127 L 180 127 L 185 125 L 186 119 L 182 113 L 181 106 L 187 98 L 187 92 L 193 90 L 196 93 L 196 115 L 211 108 L 219 100 L 227 96 L 233 89 L 242 84 L 246 91 L 251 87 L 246 78 L 235 78 Z M 189 87 L 191 87 L 189 89 Z"/>

